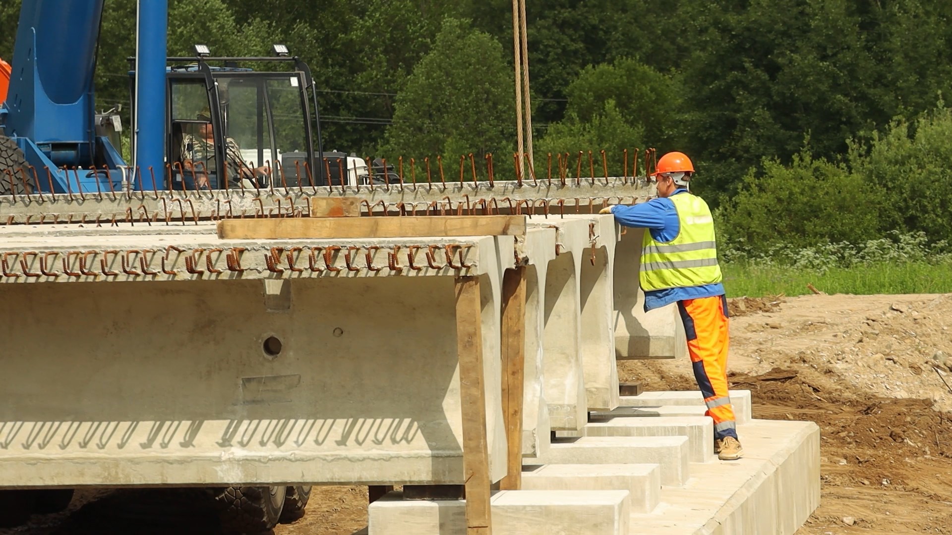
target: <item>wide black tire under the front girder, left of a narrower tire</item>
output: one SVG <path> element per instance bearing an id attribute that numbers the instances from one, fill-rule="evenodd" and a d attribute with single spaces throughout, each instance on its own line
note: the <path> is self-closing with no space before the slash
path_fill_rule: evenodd
<path id="1" fill-rule="evenodd" d="M 287 486 L 229 486 L 215 501 L 225 535 L 257 535 L 281 521 Z"/>

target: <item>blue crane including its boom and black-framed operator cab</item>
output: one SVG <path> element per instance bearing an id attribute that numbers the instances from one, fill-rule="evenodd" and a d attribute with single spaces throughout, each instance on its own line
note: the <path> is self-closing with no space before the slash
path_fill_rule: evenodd
<path id="1" fill-rule="evenodd" d="M 307 65 L 280 45 L 274 57 L 211 57 L 200 46 L 195 56 L 167 57 L 168 0 L 138 2 L 129 58 L 132 162 L 124 161 L 109 135 L 97 134 L 94 72 L 106 3 L 23 0 L 0 106 L 0 194 L 253 188 L 279 180 L 320 186 L 334 184 L 335 171 L 338 183 L 348 180 L 351 169 L 346 178 L 340 160 L 315 165 L 325 154 Z M 292 69 L 257 71 L 241 62 Z"/>

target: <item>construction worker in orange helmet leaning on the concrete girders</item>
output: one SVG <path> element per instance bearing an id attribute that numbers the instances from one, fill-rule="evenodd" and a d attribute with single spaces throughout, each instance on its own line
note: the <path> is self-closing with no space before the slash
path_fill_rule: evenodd
<path id="1" fill-rule="evenodd" d="M 694 377 L 714 421 L 714 451 L 720 459 L 734 461 L 744 450 L 727 393 L 727 301 L 710 208 L 688 191 L 693 174 L 686 155 L 668 152 L 653 174 L 657 198 L 600 213 L 613 214 L 625 227 L 645 228 L 639 273 L 645 311 L 678 304 Z"/>

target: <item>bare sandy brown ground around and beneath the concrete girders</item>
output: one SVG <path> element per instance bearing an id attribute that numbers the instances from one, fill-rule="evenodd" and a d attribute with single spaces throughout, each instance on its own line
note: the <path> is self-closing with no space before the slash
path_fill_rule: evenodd
<path id="1" fill-rule="evenodd" d="M 755 418 L 822 429 L 823 502 L 798 535 L 952 533 L 952 295 L 737 299 L 731 386 Z M 623 381 L 693 388 L 686 362 L 628 362 Z M 742 435 L 743 442 L 744 437 Z M 195 491 L 95 491 L 69 511 L 0 534 L 212 535 Z M 315 487 L 307 514 L 274 535 L 350 535 L 367 487 Z"/>

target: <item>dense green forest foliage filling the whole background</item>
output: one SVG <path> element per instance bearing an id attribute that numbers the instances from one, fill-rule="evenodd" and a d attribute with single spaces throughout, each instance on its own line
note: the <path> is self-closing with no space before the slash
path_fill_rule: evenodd
<path id="1" fill-rule="evenodd" d="M 135 19 L 134 0 L 106 2 L 104 109 L 128 100 Z M 5 58 L 19 4 L 0 3 Z M 169 4 L 169 53 L 284 42 L 301 55 L 328 148 L 391 161 L 515 148 L 509 0 Z M 531 2 L 536 167 L 546 152 L 606 149 L 614 174 L 621 150 L 682 149 L 734 247 L 891 229 L 942 239 L 952 118 L 936 103 L 952 84 L 950 19 L 947 0 Z"/>

